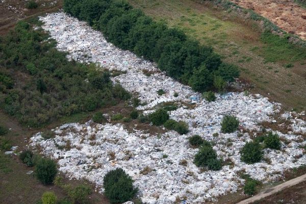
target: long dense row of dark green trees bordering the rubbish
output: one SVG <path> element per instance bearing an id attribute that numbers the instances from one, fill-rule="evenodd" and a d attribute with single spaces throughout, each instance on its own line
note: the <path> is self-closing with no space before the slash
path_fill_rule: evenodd
<path id="1" fill-rule="evenodd" d="M 195 91 L 213 89 L 216 79 L 231 82 L 239 76 L 238 68 L 223 63 L 212 47 L 153 21 L 125 1 L 65 0 L 64 11 L 102 31 L 116 46 L 157 62 L 170 77 Z"/>

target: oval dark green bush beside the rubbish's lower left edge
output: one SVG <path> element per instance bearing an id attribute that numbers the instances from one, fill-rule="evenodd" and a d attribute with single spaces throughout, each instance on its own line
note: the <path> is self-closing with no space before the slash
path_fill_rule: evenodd
<path id="1" fill-rule="evenodd" d="M 56 163 L 53 160 L 41 158 L 36 164 L 37 179 L 47 185 L 52 184 L 57 174 Z"/>

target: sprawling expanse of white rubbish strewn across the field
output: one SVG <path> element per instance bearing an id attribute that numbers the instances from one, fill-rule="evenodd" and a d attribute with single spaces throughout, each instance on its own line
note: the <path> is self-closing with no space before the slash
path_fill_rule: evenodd
<path id="1" fill-rule="evenodd" d="M 92 121 L 64 124 L 53 130 L 56 134 L 53 139 L 44 140 L 41 133 L 34 135 L 30 145 L 39 145 L 43 155 L 56 159 L 67 177 L 86 179 L 103 192 L 104 175 L 120 167 L 135 180 L 143 202 L 173 203 L 179 197 L 188 203 L 202 203 L 239 190 L 245 182 L 239 177 L 242 171 L 253 179 L 270 182 L 282 177 L 285 170 L 305 164 L 306 141 L 302 134 L 306 123 L 292 113 L 284 113 L 282 117 L 290 122 L 293 131 L 276 132 L 282 140 L 281 150 L 265 149 L 265 159 L 256 164 L 240 161 L 239 150 L 251 140 L 245 130 L 259 132 L 260 122 L 275 121 L 273 114 L 280 112 L 280 104 L 272 104 L 261 95 L 243 93 L 217 95 L 216 101 L 208 103 L 190 87 L 160 72 L 154 63 L 108 43 L 85 22 L 63 12 L 47 14 L 40 20 L 44 22 L 42 28 L 58 42 L 58 49 L 69 52 L 68 58 L 126 71 L 113 81 L 139 95 L 141 102 L 146 103 L 139 110 L 148 113 L 160 103 L 176 101 L 182 106 L 171 111 L 170 118 L 189 124 L 190 132 L 186 135 L 174 131 L 160 135 L 128 132 L 120 123 Z M 143 70 L 152 74 L 145 74 Z M 166 93 L 158 95 L 159 89 Z M 174 97 L 175 92 L 179 96 Z M 184 103 L 194 106 L 190 108 Z M 241 130 L 221 133 L 220 122 L 226 114 L 239 118 Z M 188 144 L 188 138 L 195 134 L 213 142 L 218 157 L 231 162 L 219 171 L 202 171 L 196 167 L 193 158 L 197 149 Z M 183 160 L 186 165 L 182 165 Z"/>

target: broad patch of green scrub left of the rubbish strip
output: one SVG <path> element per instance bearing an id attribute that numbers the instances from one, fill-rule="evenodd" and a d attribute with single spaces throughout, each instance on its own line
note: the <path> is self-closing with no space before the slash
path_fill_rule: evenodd
<path id="1" fill-rule="evenodd" d="M 68 61 L 56 42 L 20 21 L 0 38 L 1 108 L 32 127 L 115 105 L 130 94 L 94 65 Z"/>

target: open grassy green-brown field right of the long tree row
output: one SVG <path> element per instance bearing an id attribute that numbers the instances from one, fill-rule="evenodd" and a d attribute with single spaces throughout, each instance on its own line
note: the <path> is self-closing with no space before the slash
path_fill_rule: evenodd
<path id="1" fill-rule="evenodd" d="M 196 1 L 130 0 L 156 20 L 184 30 L 210 44 L 226 62 L 241 67 L 241 78 L 260 93 L 283 104 L 284 109 L 306 107 L 306 57 L 295 49 L 263 43 L 257 25 Z M 282 52 L 280 51 L 282 50 Z M 294 67 L 286 68 L 293 64 Z"/>

